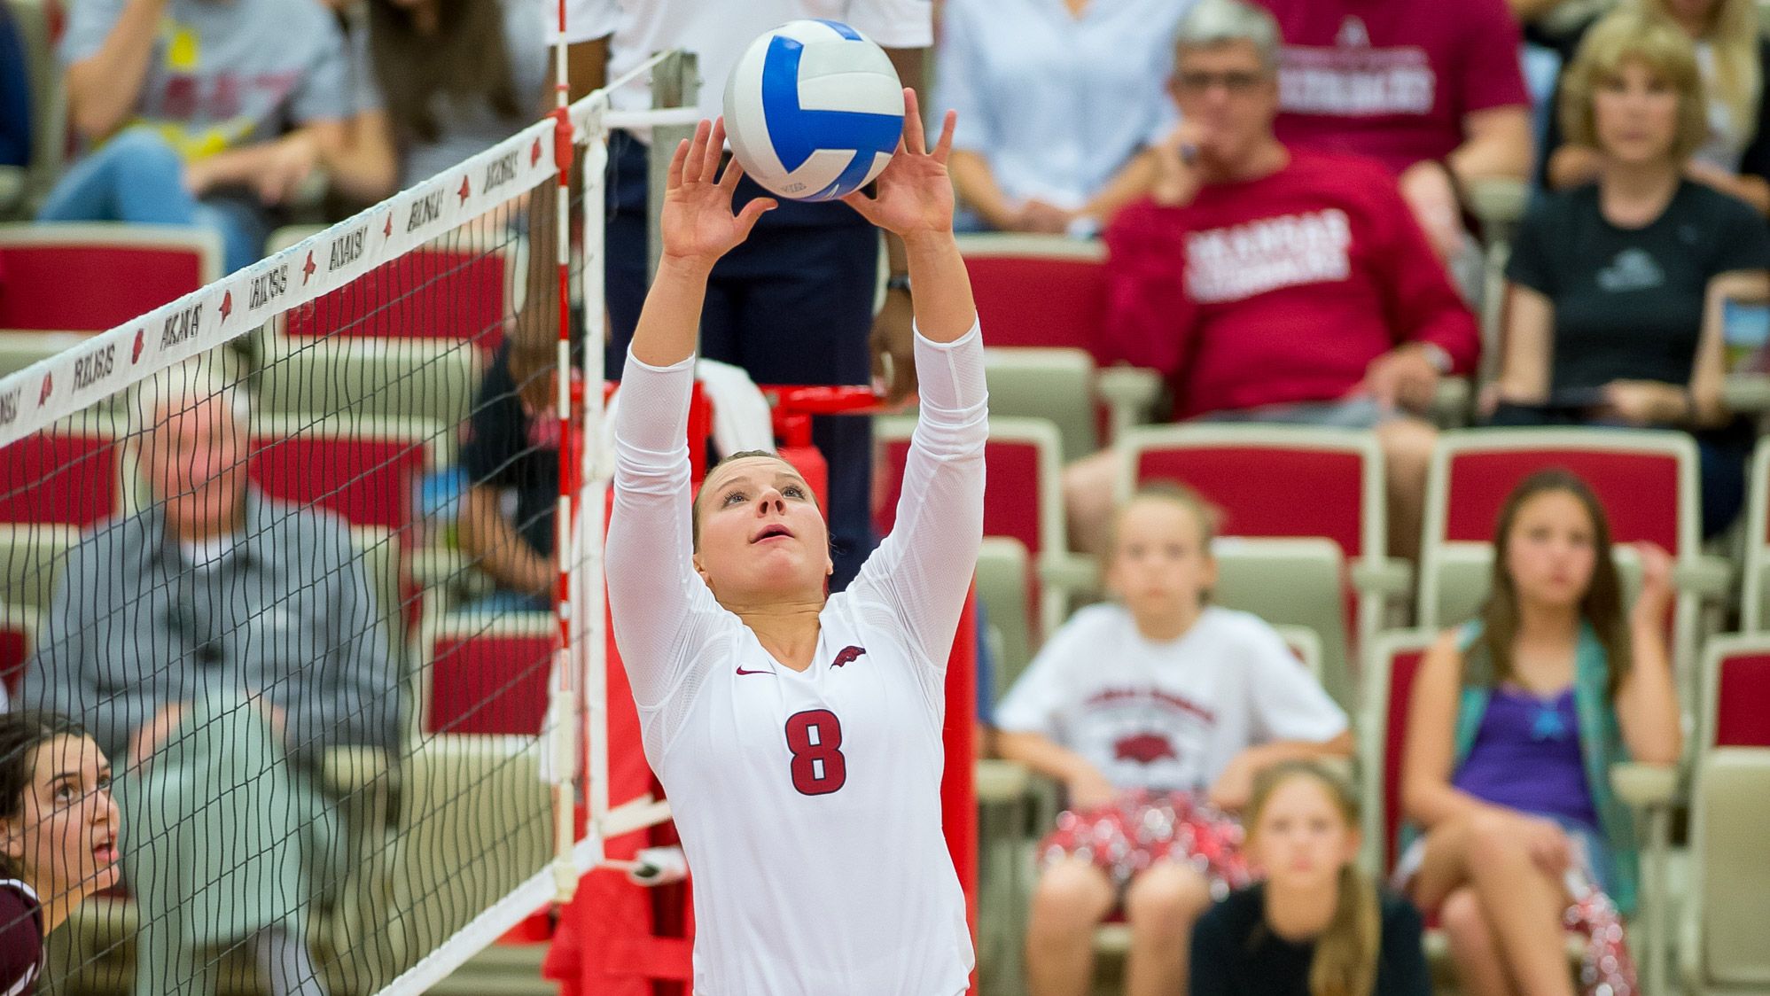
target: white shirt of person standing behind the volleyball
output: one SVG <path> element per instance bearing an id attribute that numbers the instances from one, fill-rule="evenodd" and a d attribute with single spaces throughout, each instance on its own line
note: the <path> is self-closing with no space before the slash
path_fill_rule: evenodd
<path id="1" fill-rule="evenodd" d="M 565 41 L 609 35 L 609 80 L 653 53 L 681 48 L 696 53 L 701 71 L 701 115 L 724 113 L 726 76 L 758 35 L 788 21 L 843 21 L 883 48 L 935 44 L 931 0 L 566 0 Z M 559 37 L 556 7 L 547 5 L 547 37 Z M 904 83 L 912 83 L 904 80 Z M 616 110 L 651 106 L 651 78 L 611 94 Z"/>

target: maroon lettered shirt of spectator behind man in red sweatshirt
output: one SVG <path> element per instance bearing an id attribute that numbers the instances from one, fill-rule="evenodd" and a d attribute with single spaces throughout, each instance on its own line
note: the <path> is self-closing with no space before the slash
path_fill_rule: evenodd
<path id="1" fill-rule="evenodd" d="M 1258 0 L 1285 39 L 1280 142 L 1402 172 L 1462 145 L 1462 119 L 1529 108 L 1506 0 Z"/>

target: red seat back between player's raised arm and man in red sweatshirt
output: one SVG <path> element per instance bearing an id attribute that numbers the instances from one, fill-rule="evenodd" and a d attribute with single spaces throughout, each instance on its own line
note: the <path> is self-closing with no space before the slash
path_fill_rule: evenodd
<path id="1" fill-rule="evenodd" d="M 1060 235 L 963 235 L 977 318 L 991 347 L 1076 347 L 1101 357 L 1106 278 L 1099 242 Z"/>

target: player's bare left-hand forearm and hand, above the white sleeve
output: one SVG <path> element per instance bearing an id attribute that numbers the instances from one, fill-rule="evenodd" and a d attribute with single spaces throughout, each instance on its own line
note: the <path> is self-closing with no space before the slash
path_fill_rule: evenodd
<path id="1" fill-rule="evenodd" d="M 743 170 L 733 159 L 719 177 L 726 122 L 703 120 L 692 142 L 676 145 L 664 188 L 658 237 L 664 253 L 658 272 L 634 329 L 634 357 L 651 366 L 671 366 L 694 356 L 701 331 L 706 278 L 719 257 L 749 237 L 756 219 L 773 209 L 772 198 L 756 198 L 731 214 L 731 193 Z"/>

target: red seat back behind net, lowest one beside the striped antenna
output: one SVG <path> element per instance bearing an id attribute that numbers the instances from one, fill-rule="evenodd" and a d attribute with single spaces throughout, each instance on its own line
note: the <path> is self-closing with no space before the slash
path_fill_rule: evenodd
<path id="1" fill-rule="evenodd" d="M 423 640 L 423 734 L 538 734 L 558 637 L 545 612 L 450 616 Z"/>

